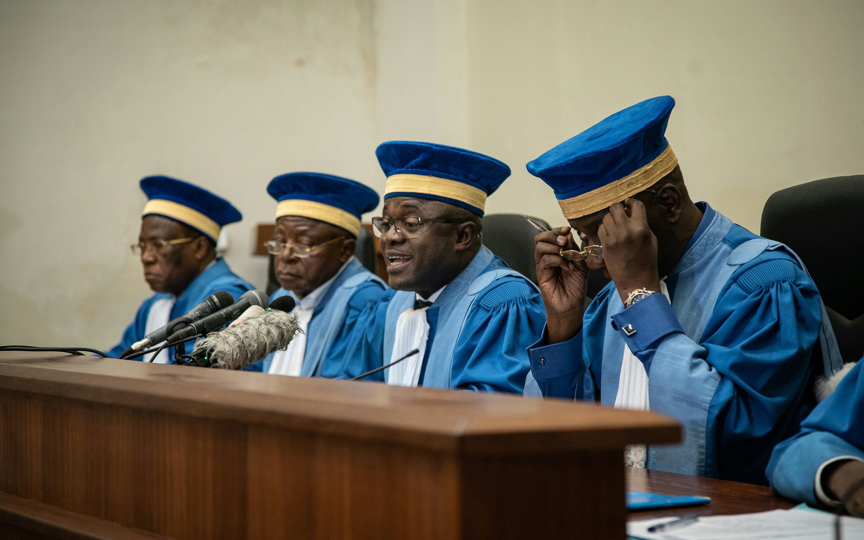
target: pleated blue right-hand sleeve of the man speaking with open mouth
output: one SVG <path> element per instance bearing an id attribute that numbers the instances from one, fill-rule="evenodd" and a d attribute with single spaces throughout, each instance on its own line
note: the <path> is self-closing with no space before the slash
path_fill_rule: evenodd
<path id="1" fill-rule="evenodd" d="M 530 285 L 518 278 L 493 282 L 468 311 L 454 350 L 451 387 L 522 393 L 530 368 L 526 348 L 545 321 L 543 300 Z"/>

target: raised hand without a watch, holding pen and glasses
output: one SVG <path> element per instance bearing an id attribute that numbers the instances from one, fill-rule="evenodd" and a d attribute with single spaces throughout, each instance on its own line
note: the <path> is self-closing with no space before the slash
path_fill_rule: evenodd
<path id="1" fill-rule="evenodd" d="M 570 262 L 560 255 L 562 248 L 578 249 L 570 227 L 558 227 L 534 237 L 537 283 L 546 306 L 546 334 L 549 345 L 573 338 L 582 326 L 585 308 L 585 261 Z"/>

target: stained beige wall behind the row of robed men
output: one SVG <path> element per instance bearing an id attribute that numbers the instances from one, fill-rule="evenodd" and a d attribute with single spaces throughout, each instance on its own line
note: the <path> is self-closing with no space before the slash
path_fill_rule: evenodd
<path id="1" fill-rule="evenodd" d="M 561 225 L 524 163 L 661 94 L 691 194 L 758 231 L 774 191 L 864 172 L 861 28 L 860 0 L 0 0 L 0 343 L 118 340 L 144 175 L 232 200 L 264 286 L 275 175 L 381 191 L 378 143 L 455 144 L 513 169 L 487 212 Z"/>

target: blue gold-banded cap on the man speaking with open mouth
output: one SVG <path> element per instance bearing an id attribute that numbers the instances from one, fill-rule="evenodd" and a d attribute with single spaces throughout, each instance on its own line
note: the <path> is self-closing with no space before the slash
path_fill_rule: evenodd
<path id="1" fill-rule="evenodd" d="M 442 200 L 480 216 L 486 197 L 510 176 L 504 162 L 444 144 L 389 141 L 378 146 L 375 156 L 387 175 L 384 200 Z"/>

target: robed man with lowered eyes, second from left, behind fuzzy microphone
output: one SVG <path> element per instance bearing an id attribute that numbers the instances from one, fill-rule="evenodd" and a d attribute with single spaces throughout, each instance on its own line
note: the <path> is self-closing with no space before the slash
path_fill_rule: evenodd
<path id="1" fill-rule="evenodd" d="M 276 176 L 267 193 L 277 201 L 276 229 L 267 249 L 282 285 L 272 299 L 294 298 L 301 332 L 287 350 L 250 371 L 340 377 L 341 358 L 330 347 L 340 333 L 351 332 L 359 312 L 386 287 L 354 257 L 360 217 L 378 206 L 378 194 L 359 182 L 320 173 Z"/>

